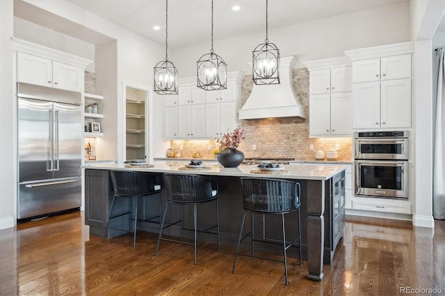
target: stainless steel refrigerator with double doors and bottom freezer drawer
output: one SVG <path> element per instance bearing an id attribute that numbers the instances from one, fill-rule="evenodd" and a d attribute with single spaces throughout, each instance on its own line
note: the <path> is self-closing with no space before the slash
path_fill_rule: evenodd
<path id="1" fill-rule="evenodd" d="M 54 95 L 17 94 L 17 220 L 81 206 L 81 94 L 76 94 L 79 102 L 72 104 L 55 101 Z"/>

